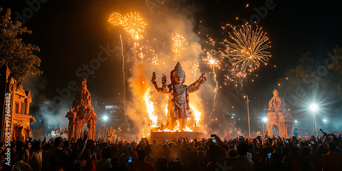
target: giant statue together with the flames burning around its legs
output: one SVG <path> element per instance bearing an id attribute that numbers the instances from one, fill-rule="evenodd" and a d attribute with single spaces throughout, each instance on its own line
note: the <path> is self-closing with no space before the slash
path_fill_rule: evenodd
<path id="1" fill-rule="evenodd" d="M 173 132 L 169 133 L 171 137 L 179 137 L 179 135 L 175 134 L 174 132 L 182 133 L 182 135 L 184 135 L 185 132 L 196 132 L 196 129 L 198 128 L 198 122 L 196 123 L 196 121 L 199 121 L 199 119 L 196 120 L 196 116 L 194 124 L 187 124 L 187 121 L 189 120 L 189 114 L 192 114 L 192 111 L 194 111 L 195 115 L 197 114 L 198 116 L 198 111 L 196 111 L 196 109 L 189 103 L 189 93 L 200 90 L 201 86 L 205 83 L 205 81 L 207 81 L 205 73 L 202 73 L 198 80 L 196 80 L 190 86 L 184 85 L 185 72 L 181 66 L 181 63 L 178 62 L 174 67 L 174 70 L 170 72 L 170 84 L 167 84 L 167 77 L 166 75 L 163 75 L 161 78 L 162 86 L 159 88 L 157 81 L 155 81 L 156 78 L 156 74 L 153 73 L 151 81 L 155 91 L 159 94 L 168 94 L 169 96 L 168 104 L 166 105 L 166 116 L 168 116 L 168 121 L 166 122 L 166 126 L 163 126 L 163 124 L 158 126 L 158 117 L 152 114 L 153 111 L 148 111 L 150 114 L 150 120 L 153 120 L 153 124 L 150 125 L 151 136 L 157 132 Z M 148 94 L 146 95 L 148 98 Z M 146 101 L 146 105 L 149 105 L 148 101 Z M 166 135 L 163 134 L 163 137 L 166 137 Z"/>

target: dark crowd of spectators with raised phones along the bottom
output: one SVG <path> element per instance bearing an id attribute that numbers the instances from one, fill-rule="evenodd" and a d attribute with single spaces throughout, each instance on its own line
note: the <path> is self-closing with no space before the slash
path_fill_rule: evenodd
<path id="1" fill-rule="evenodd" d="M 323 132 L 323 131 L 322 131 Z M 324 133 L 324 132 L 323 132 Z M 342 170 L 342 137 L 233 137 L 177 142 L 103 142 L 61 137 L 0 143 L 2 170 Z"/>

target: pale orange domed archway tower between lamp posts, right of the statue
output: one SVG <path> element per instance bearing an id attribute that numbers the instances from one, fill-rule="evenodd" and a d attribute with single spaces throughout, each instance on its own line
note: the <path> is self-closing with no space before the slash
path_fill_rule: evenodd
<path id="1" fill-rule="evenodd" d="M 293 135 L 293 118 L 286 109 L 285 100 L 273 91 L 273 97 L 268 103 L 267 135 L 289 137 Z"/>

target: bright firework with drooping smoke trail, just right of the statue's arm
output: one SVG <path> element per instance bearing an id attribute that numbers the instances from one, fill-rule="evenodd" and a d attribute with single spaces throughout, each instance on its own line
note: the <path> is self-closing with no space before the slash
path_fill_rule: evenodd
<path id="1" fill-rule="evenodd" d="M 204 61 L 207 61 L 210 68 L 213 68 L 213 81 L 215 82 L 215 89 L 214 89 L 214 98 L 213 98 L 213 109 L 211 110 L 209 118 L 213 115 L 213 112 L 215 111 L 216 107 L 216 96 L 218 95 L 218 79 L 217 75 L 215 73 L 215 67 L 218 67 L 220 69 L 220 61 L 215 60 L 213 55 L 207 51 L 207 58 L 203 59 Z"/>

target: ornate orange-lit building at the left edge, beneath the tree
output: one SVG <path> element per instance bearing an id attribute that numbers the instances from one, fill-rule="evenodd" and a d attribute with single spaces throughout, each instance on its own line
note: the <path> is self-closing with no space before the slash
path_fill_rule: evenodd
<path id="1" fill-rule="evenodd" d="M 0 69 L 1 104 L 1 142 L 8 140 L 27 140 L 32 135 L 29 124 L 36 122 L 29 115 L 31 92 L 23 89 L 23 83 L 10 77 L 7 64 Z"/>

